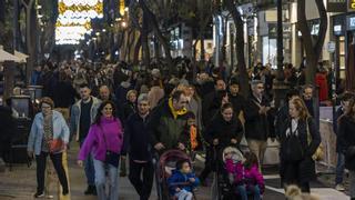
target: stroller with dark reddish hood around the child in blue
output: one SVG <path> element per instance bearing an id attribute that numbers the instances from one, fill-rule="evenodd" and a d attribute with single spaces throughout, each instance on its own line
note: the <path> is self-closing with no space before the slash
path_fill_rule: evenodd
<path id="1" fill-rule="evenodd" d="M 179 160 L 189 160 L 190 163 L 192 163 L 191 158 L 181 150 L 169 150 L 160 157 L 156 154 L 153 159 L 159 200 L 174 200 L 174 198 L 169 194 L 166 180 L 172 174 Z"/>

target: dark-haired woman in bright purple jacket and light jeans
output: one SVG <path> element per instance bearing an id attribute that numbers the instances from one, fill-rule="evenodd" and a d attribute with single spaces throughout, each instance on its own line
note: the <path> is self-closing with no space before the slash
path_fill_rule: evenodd
<path id="1" fill-rule="evenodd" d="M 102 102 L 78 157 L 78 164 L 82 167 L 83 160 L 89 153 L 93 156 L 99 200 L 116 200 L 119 197 L 118 168 L 123 142 L 123 129 L 120 120 L 114 116 L 114 103 L 112 101 Z M 110 179 L 109 196 L 105 193 L 106 170 Z"/>

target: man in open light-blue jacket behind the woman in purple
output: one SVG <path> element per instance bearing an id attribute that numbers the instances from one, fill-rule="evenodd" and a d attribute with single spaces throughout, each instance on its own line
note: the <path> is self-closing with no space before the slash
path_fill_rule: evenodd
<path id="1" fill-rule="evenodd" d="M 88 84 L 81 84 L 79 91 L 81 99 L 71 108 L 70 128 L 71 132 L 75 134 L 75 141 L 81 147 L 88 136 L 91 123 L 97 117 L 101 101 L 91 96 Z M 84 194 L 97 194 L 95 171 L 91 154 L 84 160 L 84 170 L 88 179 L 88 188 Z"/>

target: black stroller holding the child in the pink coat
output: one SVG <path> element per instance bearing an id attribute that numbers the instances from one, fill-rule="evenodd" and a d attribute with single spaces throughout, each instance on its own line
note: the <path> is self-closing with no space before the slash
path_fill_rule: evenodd
<path id="1" fill-rule="evenodd" d="M 219 151 L 215 149 L 215 151 Z M 244 160 L 243 152 L 236 147 L 225 147 L 214 154 L 215 173 L 212 188 L 212 199 L 215 200 L 232 200 L 235 199 L 233 190 L 233 181 L 225 169 L 225 156 L 230 153 L 234 162 Z"/>

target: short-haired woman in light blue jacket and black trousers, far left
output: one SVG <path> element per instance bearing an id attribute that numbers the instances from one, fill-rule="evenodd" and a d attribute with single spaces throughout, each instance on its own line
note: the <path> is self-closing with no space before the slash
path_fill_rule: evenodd
<path id="1" fill-rule="evenodd" d="M 28 141 L 28 154 L 36 156 L 37 162 L 37 192 L 34 198 L 44 197 L 44 172 L 47 157 L 50 156 L 59 181 L 63 188 L 62 194 L 69 193 L 68 179 L 62 164 L 62 154 L 69 142 L 69 128 L 63 116 L 52 110 L 54 102 L 44 97 L 39 107 L 41 112 L 36 114 Z"/>

